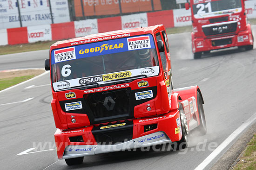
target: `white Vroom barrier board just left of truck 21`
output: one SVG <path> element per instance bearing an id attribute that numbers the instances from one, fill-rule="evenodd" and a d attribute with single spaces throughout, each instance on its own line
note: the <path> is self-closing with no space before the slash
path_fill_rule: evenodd
<path id="1" fill-rule="evenodd" d="M 192 25 L 190 9 L 189 10 L 186 10 L 185 8 L 174 9 L 173 17 L 174 17 L 174 26 L 175 27 L 176 26 Z"/>

